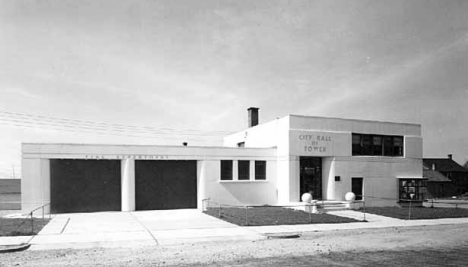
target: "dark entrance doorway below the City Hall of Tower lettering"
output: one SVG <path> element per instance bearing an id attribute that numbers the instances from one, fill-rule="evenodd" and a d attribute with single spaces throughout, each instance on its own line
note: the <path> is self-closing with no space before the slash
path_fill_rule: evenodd
<path id="1" fill-rule="evenodd" d="M 310 192 L 314 199 L 322 198 L 322 158 L 319 157 L 300 158 L 299 198 Z"/>

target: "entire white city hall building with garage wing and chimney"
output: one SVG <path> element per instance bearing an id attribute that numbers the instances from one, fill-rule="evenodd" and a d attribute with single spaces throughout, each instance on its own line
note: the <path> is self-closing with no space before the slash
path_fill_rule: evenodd
<path id="1" fill-rule="evenodd" d="M 53 213 L 288 205 L 303 193 L 368 206 L 425 195 L 418 124 L 288 115 L 222 147 L 25 143 L 22 208 Z"/>

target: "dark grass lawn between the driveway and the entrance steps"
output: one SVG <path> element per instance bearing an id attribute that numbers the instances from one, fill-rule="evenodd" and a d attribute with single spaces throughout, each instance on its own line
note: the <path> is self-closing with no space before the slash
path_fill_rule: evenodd
<path id="1" fill-rule="evenodd" d="M 209 208 L 205 213 L 240 226 L 359 222 L 326 213 L 309 214 L 300 210 L 269 206 L 248 209 L 221 208 L 221 217 L 219 217 L 219 208 Z"/>

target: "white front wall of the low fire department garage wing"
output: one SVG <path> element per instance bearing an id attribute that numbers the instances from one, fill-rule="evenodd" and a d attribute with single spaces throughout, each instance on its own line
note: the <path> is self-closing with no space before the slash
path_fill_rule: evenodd
<path id="1" fill-rule="evenodd" d="M 277 165 L 275 148 L 170 147 L 80 144 L 23 144 L 22 202 L 24 210 L 50 203 L 50 158 L 122 159 L 122 196 L 134 198 L 134 159 L 197 160 L 198 207 L 211 198 L 222 204 L 274 205 L 277 203 Z M 233 160 L 237 180 L 237 161 L 249 160 L 251 181 L 220 181 L 220 160 Z M 255 181 L 255 160 L 267 162 L 267 180 Z M 126 168 L 124 168 L 126 166 Z M 134 209 L 134 201 L 122 199 L 124 211 Z"/>

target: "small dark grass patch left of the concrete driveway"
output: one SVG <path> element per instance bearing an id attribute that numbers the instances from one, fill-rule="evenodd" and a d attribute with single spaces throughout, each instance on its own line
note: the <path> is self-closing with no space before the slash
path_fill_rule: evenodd
<path id="1" fill-rule="evenodd" d="M 35 235 L 50 221 L 50 219 L 34 218 L 31 225 L 31 219 L 0 218 L 0 236 L 24 236 Z M 34 229 L 32 229 L 34 227 Z"/>

